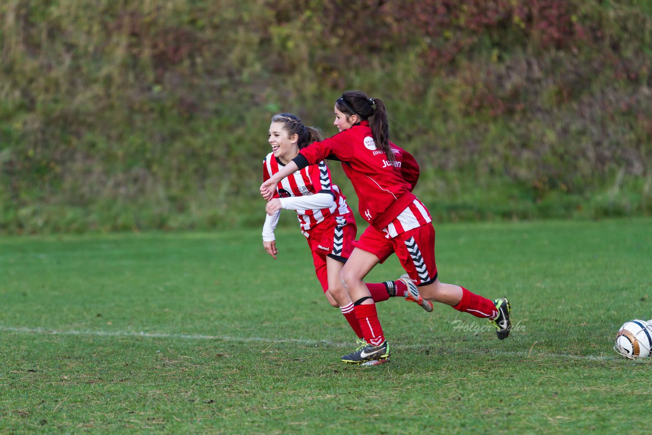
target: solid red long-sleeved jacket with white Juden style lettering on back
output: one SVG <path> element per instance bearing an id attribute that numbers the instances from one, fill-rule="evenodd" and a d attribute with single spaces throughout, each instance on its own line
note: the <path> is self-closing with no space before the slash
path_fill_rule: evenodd
<path id="1" fill-rule="evenodd" d="M 301 149 L 294 161 L 303 168 L 324 158 L 340 160 L 358 196 L 361 217 L 383 230 L 415 201 L 411 191 L 419 179 L 415 158 L 393 143 L 391 146 L 396 159 L 394 165 L 384 151 L 376 148 L 369 123 L 363 121 Z M 429 222 L 430 216 L 422 221 Z"/>

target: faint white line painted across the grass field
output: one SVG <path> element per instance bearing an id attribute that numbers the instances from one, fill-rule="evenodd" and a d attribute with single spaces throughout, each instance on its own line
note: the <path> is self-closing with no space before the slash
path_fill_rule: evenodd
<path id="1" fill-rule="evenodd" d="M 341 348 L 350 348 L 350 342 L 333 342 L 329 340 L 303 340 L 300 338 L 265 338 L 265 337 L 232 337 L 230 335 L 201 335 L 201 334 L 168 334 L 168 333 L 146 333 L 136 331 L 77 331 L 77 330 L 63 330 L 63 329 L 46 329 L 46 328 L 28 328 L 28 327 L 10 327 L 0 325 L 0 332 L 9 333 L 22 333 L 22 334 L 46 334 L 46 335 L 78 335 L 88 337 L 144 337 L 144 338 L 168 338 L 171 340 L 216 340 L 222 342 L 263 342 L 269 344 L 275 343 L 297 343 L 309 346 L 337 346 Z M 399 349 L 424 349 L 428 346 L 426 344 L 408 344 L 396 345 Z M 472 352 L 469 350 L 469 352 Z M 532 352 L 529 351 L 502 351 L 492 350 L 500 355 L 512 355 L 517 357 L 525 357 L 526 359 L 535 360 L 539 357 L 549 358 L 563 358 L 563 359 L 576 359 L 585 361 L 613 361 L 614 359 L 621 359 L 617 355 L 569 355 L 568 353 L 550 353 L 550 352 Z M 625 360 L 624 358 L 622 358 Z"/>

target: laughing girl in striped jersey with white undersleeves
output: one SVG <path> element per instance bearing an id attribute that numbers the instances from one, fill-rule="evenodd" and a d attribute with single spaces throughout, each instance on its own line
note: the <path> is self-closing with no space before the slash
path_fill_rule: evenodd
<path id="1" fill-rule="evenodd" d="M 263 160 L 263 181 L 269 180 L 297 155 L 299 149 L 316 140 L 321 132 L 306 127 L 301 119 L 291 113 L 274 115 L 269 127 L 269 144 L 272 152 Z M 323 160 L 317 164 L 280 179 L 272 199 L 267 203 L 263 225 L 263 247 L 276 259 L 274 229 L 280 209 L 297 211 L 301 232 L 312 252 L 317 278 L 324 294 L 333 307 L 339 307 L 362 344 L 363 333 L 353 312 L 349 293 L 340 280 L 342 266 L 353 250 L 357 232 L 353 212 L 340 189 L 331 183 L 331 172 Z M 408 278 L 377 284 L 366 284 L 375 302 L 386 301 L 390 296 L 403 296 L 432 311 L 432 303 L 424 300 Z"/>

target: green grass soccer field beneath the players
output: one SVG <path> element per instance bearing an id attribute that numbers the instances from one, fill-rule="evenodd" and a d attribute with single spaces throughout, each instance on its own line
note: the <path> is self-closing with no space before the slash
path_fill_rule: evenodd
<path id="1" fill-rule="evenodd" d="M 278 260 L 258 230 L 0 238 L 0 432 L 649 432 L 652 362 L 612 346 L 652 318 L 652 219 L 436 230 L 441 280 L 514 331 L 390 299 L 378 367 L 340 363 L 296 228 Z"/>

